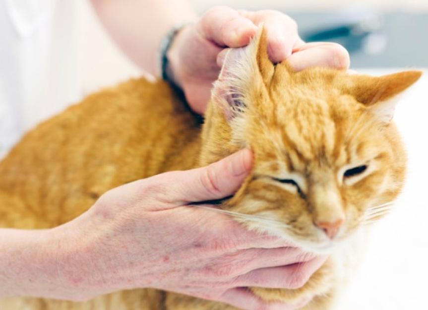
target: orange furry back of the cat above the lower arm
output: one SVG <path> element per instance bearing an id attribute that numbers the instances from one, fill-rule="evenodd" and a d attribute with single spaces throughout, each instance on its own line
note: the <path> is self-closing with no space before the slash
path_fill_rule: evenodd
<path id="1" fill-rule="evenodd" d="M 0 192 L 43 218 L 37 227 L 58 225 L 112 187 L 174 169 L 165 161 L 191 148 L 198 131 L 168 84 L 132 79 L 27 133 L 0 162 Z"/>

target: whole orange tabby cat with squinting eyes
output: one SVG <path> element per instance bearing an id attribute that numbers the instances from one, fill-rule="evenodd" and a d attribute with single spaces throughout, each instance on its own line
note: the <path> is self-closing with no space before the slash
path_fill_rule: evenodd
<path id="1" fill-rule="evenodd" d="M 403 186 L 406 155 L 391 123 L 393 97 L 420 75 L 295 73 L 287 62 L 269 61 L 260 30 L 227 56 L 202 126 L 166 83 L 139 79 L 91 95 L 29 132 L 0 162 L 0 227 L 57 226 L 110 188 L 249 147 L 253 170 L 223 209 L 274 219 L 237 218 L 249 229 L 330 253 L 301 288 L 250 289 L 269 301 L 314 296 L 305 310 L 330 309 L 367 223 Z M 8 298 L 0 309 L 234 308 L 138 289 L 83 303 Z"/>

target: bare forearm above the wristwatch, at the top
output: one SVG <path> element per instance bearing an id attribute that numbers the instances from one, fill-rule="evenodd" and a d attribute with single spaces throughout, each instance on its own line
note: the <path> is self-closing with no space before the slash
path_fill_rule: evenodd
<path id="1" fill-rule="evenodd" d="M 175 25 L 196 18 L 187 0 L 91 0 L 101 22 L 122 51 L 141 69 L 159 75 L 158 50 Z"/>

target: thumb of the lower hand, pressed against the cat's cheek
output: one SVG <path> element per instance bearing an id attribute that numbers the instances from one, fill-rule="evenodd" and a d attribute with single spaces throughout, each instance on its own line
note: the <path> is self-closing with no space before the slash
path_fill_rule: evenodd
<path id="1" fill-rule="evenodd" d="M 166 173 L 171 186 L 169 203 L 183 205 L 227 197 L 238 190 L 251 165 L 252 154 L 243 149 L 206 167 Z"/>

